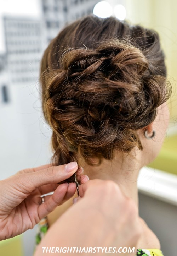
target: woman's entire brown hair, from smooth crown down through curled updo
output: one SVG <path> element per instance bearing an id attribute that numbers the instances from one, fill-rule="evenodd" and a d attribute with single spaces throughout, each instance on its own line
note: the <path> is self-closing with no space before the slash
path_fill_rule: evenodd
<path id="1" fill-rule="evenodd" d="M 155 31 L 114 17 L 87 16 L 65 27 L 41 60 L 42 107 L 53 162 L 78 166 L 142 150 L 137 130 L 169 99 L 164 54 Z M 69 179 L 73 181 L 73 179 Z"/>

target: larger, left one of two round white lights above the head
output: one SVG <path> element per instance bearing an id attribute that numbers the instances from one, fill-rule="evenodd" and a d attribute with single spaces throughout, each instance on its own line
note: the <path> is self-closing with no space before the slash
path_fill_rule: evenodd
<path id="1" fill-rule="evenodd" d="M 95 5 L 93 14 L 100 18 L 107 18 L 113 14 L 113 9 L 108 2 L 101 1 Z"/>

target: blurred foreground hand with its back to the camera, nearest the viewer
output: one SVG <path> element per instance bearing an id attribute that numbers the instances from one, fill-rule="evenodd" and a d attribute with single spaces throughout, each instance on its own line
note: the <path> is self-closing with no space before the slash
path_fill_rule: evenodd
<path id="1" fill-rule="evenodd" d="M 141 235 L 135 202 L 122 194 L 119 186 L 110 180 L 95 179 L 81 184 L 79 194 L 82 198 L 78 197 L 78 202 L 50 227 L 35 256 L 42 256 L 42 247 L 46 246 L 135 247 L 134 252 L 126 254 L 134 256 Z M 45 252 L 45 255 L 50 254 Z M 96 255 L 103 253 L 99 251 Z"/>

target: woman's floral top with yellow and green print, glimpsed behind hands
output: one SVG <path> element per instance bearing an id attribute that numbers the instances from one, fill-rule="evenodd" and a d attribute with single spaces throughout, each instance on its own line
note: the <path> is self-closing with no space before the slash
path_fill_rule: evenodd
<path id="1" fill-rule="evenodd" d="M 45 233 L 48 230 L 48 219 L 45 217 L 41 219 L 38 224 L 38 231 L 36 234 L 36 245 L 40 243 Z M 137 249 L 135 256 L 164 256 L 162 251 L 159 249 Z"/>

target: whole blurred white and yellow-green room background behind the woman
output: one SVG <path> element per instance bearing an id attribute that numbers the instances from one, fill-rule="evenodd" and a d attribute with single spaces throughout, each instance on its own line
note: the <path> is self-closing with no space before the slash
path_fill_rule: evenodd
<path id="1" fill-rule="evenodd" d="M 0 0 L 0 179 L 50 162 L 51 130 L 40 101 L 39 65 L 48 43 L 68 23 L 94 13 L 159 32 L 173 86 L 164 146 L 141 170 L 140 215 L 164 256 L 177 245 L 177 2 L 175 0 Z M 0 242 L 0 255 L 31 256 L 35 229 Z"/>

